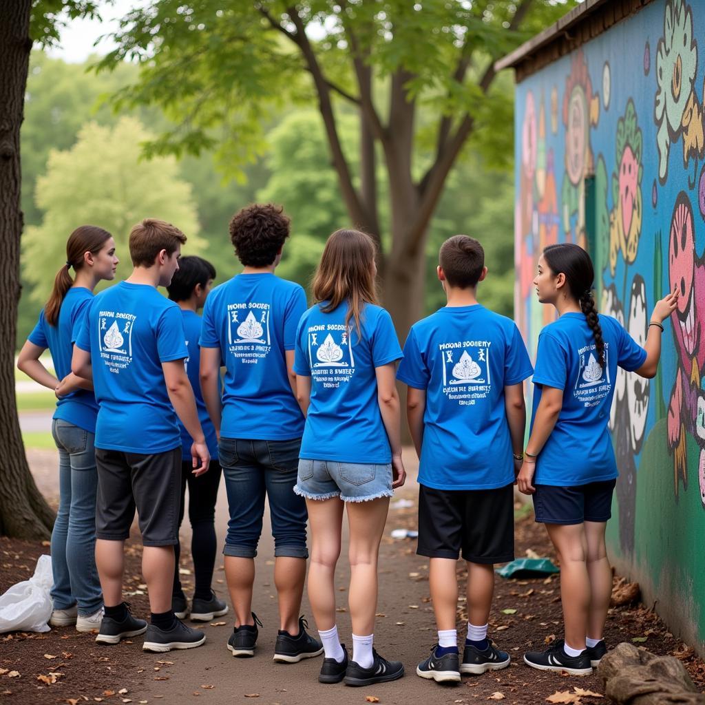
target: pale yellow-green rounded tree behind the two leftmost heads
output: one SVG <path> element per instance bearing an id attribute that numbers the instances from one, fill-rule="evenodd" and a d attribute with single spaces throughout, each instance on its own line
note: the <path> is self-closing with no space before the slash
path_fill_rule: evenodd
<path id="1" fill-rule="evenodd" d="M 140 143 L 149 137 L 136 118 L 123 117 L 114 128 L 89 123 L 71 149 L 51 152 L 47 174 L 37 181 L 44 220 L 28 227 L 24 238 L 23 265 L 35 303 L 47 300 L 66 238 L 81 223 L 113 234 L 122 260 L 119 278 L 130 274 L 130 228 L 145 216 L 178 226 L 188 237 L 185 252 L 203 252 L 192 190 L 179 178 L 176 159 L 140 160 Z"/>

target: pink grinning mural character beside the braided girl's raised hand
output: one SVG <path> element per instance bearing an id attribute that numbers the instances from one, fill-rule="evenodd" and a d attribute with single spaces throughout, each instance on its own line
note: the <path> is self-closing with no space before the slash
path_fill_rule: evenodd
<path id="1" fill-rule="evenodd" d="M 668 446 L 673 452 L 674 490 L 687 488 L 686 434 L 700 448 L 699 485 L 705 505 L 705 257 L 695 253 L 693 209 L 685 191 L 675 200 L 668 237 L 668 281 L 678 288 L 672 314 L 678 370 L 668 407 Z"/>

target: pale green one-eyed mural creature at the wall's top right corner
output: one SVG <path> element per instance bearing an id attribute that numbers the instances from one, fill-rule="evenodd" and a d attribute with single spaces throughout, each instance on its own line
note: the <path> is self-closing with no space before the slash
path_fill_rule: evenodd
<path id="1" fill-rule="evenodd" d="M 668 0 L 663 16 L 663 37 L 656 49 L 656 98 L 654 121 L 658 125 L 658 180 L 668 178 L 668 152 L 671 142 L 683 137 L 683 167 L 705 152 L 703 108 L 694 90 L 698 48 L 693 34 L 692 8 L 685 0 Z M 694 186 L 694 176 L 690 187 Z"/>

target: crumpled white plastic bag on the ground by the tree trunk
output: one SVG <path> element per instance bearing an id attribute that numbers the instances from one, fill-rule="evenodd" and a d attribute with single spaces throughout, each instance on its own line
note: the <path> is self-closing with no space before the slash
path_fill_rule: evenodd
<path id="1" fill-rule="evenodd" d="M 30 580 L 18 582 L 0 595 L 0 633 L 48 632 L 52 584 L 51 556 L 39 556 Z"/>

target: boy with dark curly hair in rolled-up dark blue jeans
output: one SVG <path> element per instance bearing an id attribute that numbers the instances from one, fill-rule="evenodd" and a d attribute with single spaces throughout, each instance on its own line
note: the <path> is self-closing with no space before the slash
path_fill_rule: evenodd
<path id="1" fill-rule="evenodd" d="M 210 293 L 201 329 L 201 388 L 219 436 L 230 521 L 223 549 L 235 625 L 233 656 L 254 656 L 252 612 L 257 542 L 264 498 L 274 534 L 274 583 L 279 632 L 274 660 L 295 663 L 318 656 L 323 646 L 299 616 L 306 577 L 306 505 L 295 496 L 304 417 L 293 373 L 296 326 L 306 310 L 304 290 L 275 276 L 289 219 L 273 205 L 243 208 L 230 223 L 235 253 L 244 265 Z M 226 367 L 223 393 L 221 364 Z"/>

